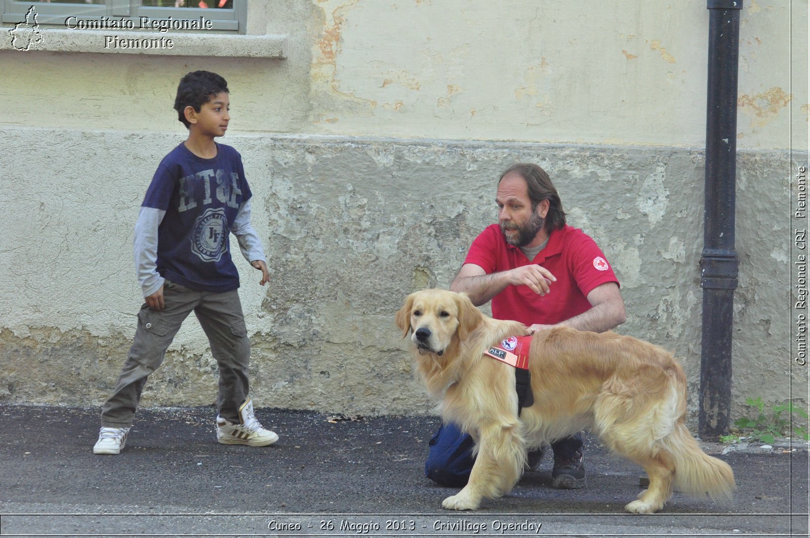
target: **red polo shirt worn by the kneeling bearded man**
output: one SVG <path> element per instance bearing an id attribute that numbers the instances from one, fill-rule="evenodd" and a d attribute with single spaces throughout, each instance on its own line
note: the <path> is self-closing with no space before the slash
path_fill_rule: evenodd
<path id="1" fill-rule="evenodd" d="M 619 284 L 595 241 L 567 224 L 551 233 L 546 247 L 531 261 L 506 242 L 498 224 L 492 224 L 472 241 L 464 263 L 475 263 L 487 274 L 536 263 L 556 276 L 556 282 L 549 284 L 551 292 L 542 297 L 528 286 L 513 285 L 492 297 L 493 318 L 525 325 L 552 325 L 573 318 L 590 310 L 587 295 L 593 288 L 606 282 Z"/>

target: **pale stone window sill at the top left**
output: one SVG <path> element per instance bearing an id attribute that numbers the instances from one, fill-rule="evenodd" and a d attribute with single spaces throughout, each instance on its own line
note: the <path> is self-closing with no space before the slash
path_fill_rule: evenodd
<path id="1" fill-rule="evenodd" d="M 7 36 L 13 27 L 0 26 L 0 50 L 18 50 Z M 107 32 L 43 28 L 36 50 L 62 53 L 120 53 L 155 56 L 220 56 L 226 58 L 287 58 L 287 36 L 245 36 L 179 32 Z M 19 45 L 18 45 L 19 46 Z"/>

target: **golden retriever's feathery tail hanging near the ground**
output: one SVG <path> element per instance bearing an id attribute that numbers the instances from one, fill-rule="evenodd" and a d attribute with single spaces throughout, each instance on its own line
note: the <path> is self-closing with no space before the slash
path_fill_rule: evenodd
<path id="1" fill-rule="evenodd" d="M 736 489 L 734 472 L 722 459 L 707 455 L 682 421 L 661 440 L 675 464 L 675 489 L 712 500 L 731 500 Z"/>

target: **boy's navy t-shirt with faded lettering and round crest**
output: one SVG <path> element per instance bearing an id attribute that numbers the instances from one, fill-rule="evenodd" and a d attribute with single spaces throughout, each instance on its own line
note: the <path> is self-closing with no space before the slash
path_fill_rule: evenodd
<path id="1" fill-rule="evenodd" d="M 251 193 L 237 150 L 216 144 L 213 159 L 184 144 L 160 161 L 143 207 L 166 211 L 158 228 L 157 271 L 164 279 L 203 292 L 239 288 L 230 235 Z"/>

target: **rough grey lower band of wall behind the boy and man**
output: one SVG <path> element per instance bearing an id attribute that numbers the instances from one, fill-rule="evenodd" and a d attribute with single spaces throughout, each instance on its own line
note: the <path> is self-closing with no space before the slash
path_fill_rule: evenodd
<path id="1" fill-rule="evenodd" d="M 99 403 L 113 387 L 139 307 L 132 223 L 151 163 L 178 139 L 25 129 L 3 134 L 0 143 L 22 152 L 43 139 L 47 151 L 2 171 L 4 190 L 28 169 L 39 180 L 3 196 L 4 211 L 16 216 L 6 241 L 17 248 L 2 257 L 10 278 L 0 299 L 0 397 Z M 253 392 L 262 405 L 428 411 L 394 311 L 408 292 L 448 286 L 471 240 L 495 219 L 498 173 L 520 160 L 548 169 L 569 222 L 597 237 L 608 254 L 629 313 L 620 332 L 675 351 L 695 398 L 701 152 L 323 137 L 228 141 L 242 150 L 272 273 L 269 290 L 261 288 L 241 263 Z M 71 152 L 60 149 L 68 145 Z M 129 156 L 103 164 L 103 172 L 101 164 L 90 172 L 77 165 L 99 152 Z M 774 238 L 791 231 L 787 219 L 762 208 L 787 199 L 783 177 L 790 170 L 782 152 L 740 158 L 738 403 L 755 395 L 785 399 L 789 389 L 790 245 Z M 193 319 L 170 350 L 144 403 L 211 403 L 215 363 Z"/>

